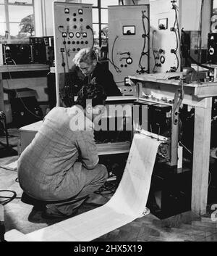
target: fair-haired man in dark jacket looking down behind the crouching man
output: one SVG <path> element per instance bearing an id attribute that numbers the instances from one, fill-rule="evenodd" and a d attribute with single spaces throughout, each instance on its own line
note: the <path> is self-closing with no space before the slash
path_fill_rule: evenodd
<path id="1" fill-rule="evenodd" d="M 70 79 L 77 86 L 79 91 L 82 86 L 95 82 L 103 86 L 107 96 L 122 96 L 119 88 L 114 82 L 111 72 L 98 62 L 95 51 L 90 48 L 84 48 L 77 52 L 73 59 L 75 65 L 70 70 Z"/>

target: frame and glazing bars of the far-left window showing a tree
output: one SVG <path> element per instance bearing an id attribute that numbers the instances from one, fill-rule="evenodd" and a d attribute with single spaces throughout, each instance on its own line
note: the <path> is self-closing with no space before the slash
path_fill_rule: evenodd
<path id="1" fill-rule="evenodd" d="M 23 0 L 24 2 L 25 0 Z M 35 4 L 34 4 L 35 0 L 32 0 L 32 4 L 23 4 L 23 2 L 18 2 L 17 3 L 9 3 L 9 0 L 4 0 L 4 3 L 0 3 L 1 6 L 4 7 L 4 15 L 5 15 L 5 21 L 4 22 L 0 22 L 2 24 L 5 24 L 6 30 L 9 31 L 9 37 L 3 39 L 2 41 L 6 41 L 7 44 L 11 44 L 13 41 L 19 41 L 19 39 L 12 39 L 11 38 L 11 33 L 10 33 L 10 24 L 17 24 L 17 22 L 10 22 L 9 21 L 9 6 L 25 6 L 25 7 L 33 7 L 33 17 L 34 17 L 34 28 L 35 28 Z M 22 41 L 22 40 L 20 40 Z"/>

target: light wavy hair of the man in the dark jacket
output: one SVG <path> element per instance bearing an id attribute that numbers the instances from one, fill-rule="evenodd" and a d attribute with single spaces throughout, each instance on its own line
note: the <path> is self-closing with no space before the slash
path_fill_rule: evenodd
<path id="1" fill-rule="evenodd" d="M 97 60 L 95 51 L 90 48 L 83 48 L 75 54 L 73 62 L 75 62 L 75 65 L 78 65 L 80 62 L 92 64 L 94 60 Z"/>

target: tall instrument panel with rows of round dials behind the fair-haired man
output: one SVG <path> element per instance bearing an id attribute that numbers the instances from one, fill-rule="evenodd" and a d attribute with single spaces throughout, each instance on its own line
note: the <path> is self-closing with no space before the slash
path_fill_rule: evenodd
<path id="1" fill-rule="evenodd" d="M 54 49 L 56 73 L 56 102 L 59 91 L 69 88 L 73 81 L 67 73 L 80 49 L 93 48 L 92 4 L 54 2 Z M 73 94 L 73 88 L 70 88 Z"/>

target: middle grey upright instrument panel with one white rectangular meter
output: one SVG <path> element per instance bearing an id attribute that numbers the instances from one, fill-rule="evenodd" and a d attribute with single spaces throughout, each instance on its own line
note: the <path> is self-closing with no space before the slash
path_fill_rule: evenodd
<path id="1" fill-rule="evenodd" d="M 109 70 L 118 86 L 149 73 L 149 5 L 108 7 Z"/>

